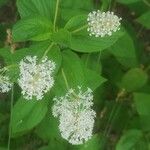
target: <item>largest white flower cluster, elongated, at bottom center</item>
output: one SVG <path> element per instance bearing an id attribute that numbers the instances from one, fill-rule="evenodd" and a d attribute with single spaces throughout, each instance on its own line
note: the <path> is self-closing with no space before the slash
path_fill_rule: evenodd
<path id="1" fill-rule="evenodd" d="M 59 130 L 64 139 L 73 145 L 83 144 L 92 136 L 96 113 L 91 89 L 83 92 L 70 89 L 65 96 L 54 98 L 53 116 L 59 117 Z"/>

